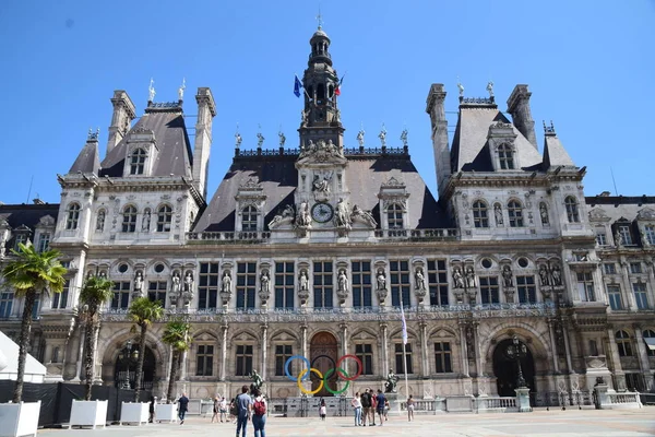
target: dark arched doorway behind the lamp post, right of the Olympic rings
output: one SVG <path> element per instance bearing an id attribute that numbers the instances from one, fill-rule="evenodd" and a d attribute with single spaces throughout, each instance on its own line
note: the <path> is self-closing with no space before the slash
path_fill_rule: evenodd
<path id="1" fill-rule="evenodd" d="M 515 397 L 516 380 L 519 379 L 519 366 L 516 358 L 508 352 L 508 347 L 513 346 L 512 339 L 507 339 L 498 343 L 493 351 L 493 375 L 496 375 L 496 385 L 498 394 L 501 397 Z M 526 347 L 526 354 L 521 359 L 521 370 L 525 385 L 529 388 L 531 398 L 535 392 L 535 362 L 529 347 Z"/>

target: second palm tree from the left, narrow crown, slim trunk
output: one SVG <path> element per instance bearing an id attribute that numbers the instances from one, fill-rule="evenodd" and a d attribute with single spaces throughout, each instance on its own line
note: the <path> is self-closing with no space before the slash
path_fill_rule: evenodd
<path id="1" fill-rule="evenodd" d="M 100 308 L 105 303 L 111 300 L 114 295 L 114 282 L 104 276 L 90 276 L 80 292 L 80 305 L 82 306 L 82 318 L 85 321 L 86 335 L 84 338 L 86 354 L 84 356 L 85 393 L 84 399 L 91 401 L 91 388 L 95 376 L 94 356 L 96 339 L 100 330 Z"/>

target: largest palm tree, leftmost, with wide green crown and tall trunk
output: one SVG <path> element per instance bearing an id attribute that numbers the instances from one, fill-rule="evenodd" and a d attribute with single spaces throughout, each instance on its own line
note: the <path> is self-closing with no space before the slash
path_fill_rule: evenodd
<path id="1" fill-rule="evenodd" d="M 57 250 L 38 252 L 34 246 L 19 244 L 19 250 L 11 250 L 16 257 L 2 269 L 4 280 L 15 290 L 16 297 L 25 298 L 23 320 L 21 321 L 21 336 L 19 338 L 19 375 L 13 393 L 13 402 L 21 402 L 23 398 L 23 378 L 25 377 L 25 361 L 32 330 L 32 310 L 36 296 L 39 293 L 61 293 L 67 269 L 61 265 L 58 258 L 61 253 Z"/>

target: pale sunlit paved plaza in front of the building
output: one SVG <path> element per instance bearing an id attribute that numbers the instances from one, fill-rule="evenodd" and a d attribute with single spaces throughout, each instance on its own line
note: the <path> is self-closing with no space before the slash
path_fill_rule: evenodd
<path id="1" fill-rule="evenodd" d="M 189 417 L 184 425 L 148 424 L 146 426 L 108 426 L 105 429 L 43 429 L 41 437 L 151 437 L 151 436 L 234 436 L 234 424 L 211 424 L 210 418 Z M 248 424 L 248 437 L 254 435 Z M 629 411 L 567 410 L 505 414 L 442 414 L 417 416 L 408 423 L 405 417 L 390 417 L 380 426 L 355 427 L 353 417 L 267 418 L 266 436 L 654 436 L 655 408 Z"/>

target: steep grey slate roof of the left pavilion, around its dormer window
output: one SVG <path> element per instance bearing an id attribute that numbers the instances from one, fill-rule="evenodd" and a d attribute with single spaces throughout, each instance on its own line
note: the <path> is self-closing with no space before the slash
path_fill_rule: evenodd
<path id="1" fill-rule="evenodd" d="M 193 154 L 187 133 L 181 107 L 147 108 L 136 125 L 103 160 L 100 176 L 122 177 L 130 133 L 139 129 L 150 129 L 155 133 L 159 153 L 153 165 L 152 176 L 191 177 Z"/>

